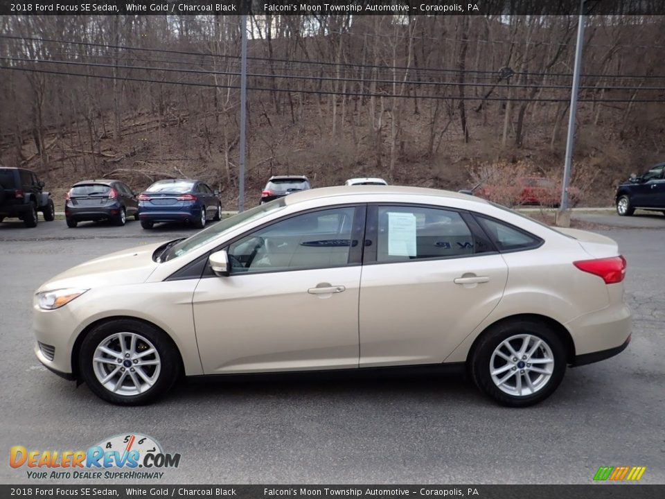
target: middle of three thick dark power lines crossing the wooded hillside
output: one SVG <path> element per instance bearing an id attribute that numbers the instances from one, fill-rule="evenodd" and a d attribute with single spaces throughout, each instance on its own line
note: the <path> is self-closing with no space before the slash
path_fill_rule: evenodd
<path id="1" fill-rule="evenodd" d="M 68 64 L 70 66 L 83 66 L 83 67 L 107 67 L 116 69 L 132 69 L 132 70 L 145 70 L 145 71 L 164 71 L 170 73 L 188 73 L 188 74 L 202 74 L 202 75 L 220 75 L 220 76 L 238 76 L 235 71 L 213 71 L 207 69 L 186 69 L 186 68 L 166 68 L 166 67 L 148 67 L 148 66 L 127 66 L 120 64 L 103 64 L 101 62 L 78 62 L 78 61 L 62 61 L 62 60 L 48 60 L 48 59 L 28 59 L 28 58 L 8 58 L 0 57 L 0 60 L 10 60 L 14 62 L 39 62 L 42 64 Z M 522 83 L 502 84 L 502 83 L 472 83 L 472 82 L 427 82 L 418 80 L 380 80 L 380 79 L 362 79 L 362 78 L 336 78 L 330 76 L 301 76 L 301 75 L 285 75 L 285 74 L 269 74 L 269 73 L 247 73 L 247 76 L 255 78 L 279 78 L 283 80 L 314 80 L 314 81 L 328 81 L 328 82 L 352 82 L 364 83 L 369 85 L 371 83 L 382 83 L 389 85 L 427 85 L 427 86 L 441 86 L 441 87 L 492 87 L 494 88 L 535 88 L 535 89 L 565 89 L 569 90 L 568 85 L 529 85 Z M 580 86 L 580 89 L 585 90 L 656 90 L 665 91 L 665 87 L 626 87 L 626 86 Z"/>

